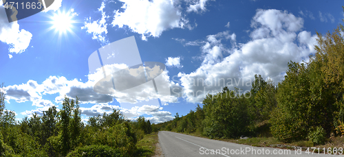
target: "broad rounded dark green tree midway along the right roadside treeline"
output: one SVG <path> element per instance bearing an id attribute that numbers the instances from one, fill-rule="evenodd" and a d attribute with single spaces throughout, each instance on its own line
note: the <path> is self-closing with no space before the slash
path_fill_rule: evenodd
<path id="1" fill-rule="evenodd" d="M 244 95 L 224 90 L 204 99 L 204 134 L 211 138 L 237 138 L 248 134 L 250 118 Z M 230 124 L 230 125 L 228 125 Z"/>

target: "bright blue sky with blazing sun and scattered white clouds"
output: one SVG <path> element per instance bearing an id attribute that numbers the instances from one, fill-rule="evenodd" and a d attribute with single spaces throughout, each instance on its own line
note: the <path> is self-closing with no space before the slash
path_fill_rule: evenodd
<path id="1" fill-rule="evenodd" d="M 55 0 L 12 23 L 0 6 L 6 109 L 21 120 L 61 108 L 66 95 L 79 98 L 85 122 L 113 109 L 131 120 L 169 121 L 177 112 L 186 115 L 202 106 L 207 94 L 224 86 L 248 93 L 255 74 L 281 82 L 290 60 L 308 62 L 315 53 L 316 32 L 332 32 L 343 22 L 342 5 L 339 0 Z M 125 50 L 103 53 L 118 47 Z M 103 66 L 94 67 L 90 60 L 98 57 Z M 111 57 L 116 62 L 105 62 Z M 162 66 L 155 71 L 149 62 Z M 156 75 L 138 84 L 131 70 L 148 76 L 135 67 L 114 78 L 112 92 L 96 90 L 102 69 L 115 73 L 142 63 Z M 121 85 L 133 87 L 120 91 Z"/>

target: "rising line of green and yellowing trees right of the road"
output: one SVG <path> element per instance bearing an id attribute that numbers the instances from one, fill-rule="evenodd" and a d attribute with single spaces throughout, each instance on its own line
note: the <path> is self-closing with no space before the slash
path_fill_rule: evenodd
<path id="1" fill-rule="evenodd" d="M 310 140 L 344 135 L 343 25 L 332 34 L 318 35 L 309 62 L 288 63 L 282 82 L 275 85 L 255 75 L 246 95 L 227 87 L 207 95 L 184 117 L 160 123 L 160 130 L 198 132 L 210 138 L 275 136 L 280 141 Z M 247 97 L 247 98 L 245 98 Z"/>

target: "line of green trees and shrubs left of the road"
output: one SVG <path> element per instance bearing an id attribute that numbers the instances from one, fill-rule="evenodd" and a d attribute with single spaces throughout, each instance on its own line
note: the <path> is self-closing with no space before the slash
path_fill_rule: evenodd
<path id="1" fill-rule="evenodd" d="M 119 110 L 84 124 L 78 99 L 67 97 L 61 110 L 53 106 L 19 122 L 4 100 L 0 92 L 0 156 L 140 156 L 136 143 L 156 131 L 144 117 L 129 121 Z"/>

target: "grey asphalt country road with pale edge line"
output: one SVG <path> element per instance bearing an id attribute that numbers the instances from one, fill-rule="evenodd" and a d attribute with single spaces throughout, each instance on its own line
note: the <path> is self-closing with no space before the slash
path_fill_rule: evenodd
<path id="1" fill-rule="evenodd" d="M 160 131 L 159 143 L 165 157 L 175 156 L 336 156 L 328 154 L 307 154 L 305 150 L 295 151 L 288 149 L 277 149 L 271 147 L 252 147 L 225 141 L 211 140 L 178 134 L 175 132 Z M 259 155 L 260 154 L 260 155 Z"/>

